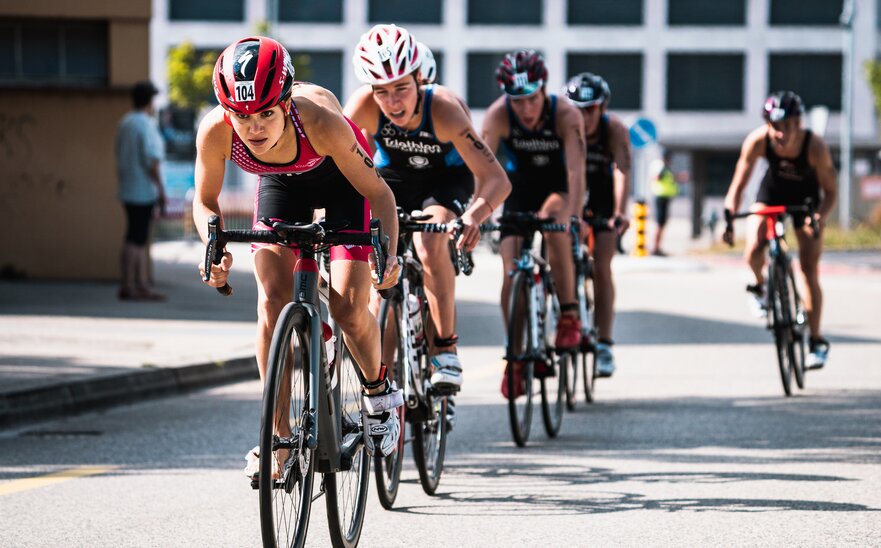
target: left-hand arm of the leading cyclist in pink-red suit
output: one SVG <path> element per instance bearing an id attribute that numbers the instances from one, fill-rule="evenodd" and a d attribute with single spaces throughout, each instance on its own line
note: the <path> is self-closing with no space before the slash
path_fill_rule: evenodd
<path id="1" fill-rule="evenodd" d="M 196 134 L 193 222 L 203 242 L 208 241 L 208 217 L 217 215 L 222 218 L 218 198 L 232 144 L 232 131 L 223 121 L 223 110 L 216 107 L 199 124 Z"/>

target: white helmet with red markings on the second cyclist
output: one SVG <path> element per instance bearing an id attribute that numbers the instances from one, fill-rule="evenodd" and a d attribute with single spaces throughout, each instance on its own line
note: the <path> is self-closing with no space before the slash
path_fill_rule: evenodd
<path id="1" fill-rule="evenodd" d="M 422 63 L 421 44 L 395 25 L 376 25 L 361 35 L 352 64 L 355 75 L 365 84 L 388 84 L 407 76 Z"/>

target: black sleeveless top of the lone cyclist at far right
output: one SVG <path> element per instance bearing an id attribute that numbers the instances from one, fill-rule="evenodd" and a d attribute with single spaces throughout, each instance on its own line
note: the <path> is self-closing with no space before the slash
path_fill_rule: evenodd
<path id="1" fill-rule="evenodd" d="M 765 135 L 765 157 L 768 171 L 759 186 L 756 201 L 766 205 L 804 205 L 811 199 L 820 203 L 820 181 L 808 163 L 808 147 L 812 133 L 805 130 L 804 143 L 795 158 L 783 158 L 774 152 L 771 138 Z"/>

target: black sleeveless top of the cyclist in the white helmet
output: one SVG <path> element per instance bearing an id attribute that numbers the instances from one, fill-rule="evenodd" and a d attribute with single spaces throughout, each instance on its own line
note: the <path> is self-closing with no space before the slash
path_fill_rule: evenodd
<path id="1" fill-rule="evenodd" d="M 423 89 L 422 121 L 415 130 L 399 128 L 380 111 L 373 161 L 398 206 L 412 211 L 440 204 L 461 215 L 474 193 L 474 177 L 453 144 L 442 143 L 435 135 L 431 118 L 435 87 Z"/>

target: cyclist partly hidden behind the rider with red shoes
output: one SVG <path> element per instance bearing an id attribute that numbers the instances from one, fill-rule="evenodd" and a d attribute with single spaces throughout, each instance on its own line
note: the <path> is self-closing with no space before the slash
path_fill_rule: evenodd
<path id="1" fill-rule="evenodd" d="M 630 136 L 627 126 L 607 112 L 611 92 L 606 81 L 590 72 L 569 79 L 564 90 L 570 103 L 581 109 L 587 135 L 587 205 L 585 218 L 609 219 L 594 226 L 593 285 L 597 324 L 598 377 L 615 372 L 612 325 L 615 320 L 615 283 L 612 257 L 617 239 L 630 226 L 625 211 L 630 196 Z"/>

